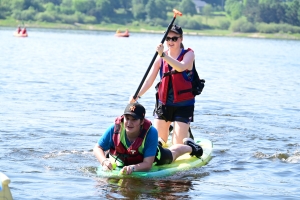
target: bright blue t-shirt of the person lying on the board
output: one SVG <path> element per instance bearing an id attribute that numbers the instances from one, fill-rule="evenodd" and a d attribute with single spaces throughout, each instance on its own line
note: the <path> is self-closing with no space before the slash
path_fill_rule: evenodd
<path id="1" fill-rule="evenodd" d="M 110 148 L 115 147 L 115 144 L 112 140 L 112 136 L 114 133 L 114 127 L 115 127 L 115 124 L 112 124 L 110 127 L 108 127 L 106 129 L 106 131 L 104 132 L 104 134 L 98 140 L 98 145 L 104 151 L 107 151 Z M 127 145 L 130 146 L 130 142 L 127 140 L 127 137 L 125 137 L 125 138 L 126 138 Z M 157 145 L 158 145 L 158 132 L 157 132 L 156 128 L 151 126 L 150 130 L 147 133 L 146 141 L 144 143 L 144 152 L 143 152 L 144 158 L 155 156 L 156 150 L 157 150 Z"/>

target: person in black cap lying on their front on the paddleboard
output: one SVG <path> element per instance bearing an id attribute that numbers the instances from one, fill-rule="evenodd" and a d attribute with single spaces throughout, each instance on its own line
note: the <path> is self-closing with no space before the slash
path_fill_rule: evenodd
<path id="1" fill-rule="evenodd" d="M 93 151 L 103 170 L 113 170 L 118 166 L 122 167 L 121 173 L 131 174 L 149 171 L 153 163 L 170 164 L 185 153 L 198 158 L 202 156 L 203 149 L 191 138 L 184 138 L 184 144 L 169 148 L 158 145 L 158 132 L 145 114 L 141 104 L 128 104 L 124 114 L 117 117 L 100 137 Z"/>

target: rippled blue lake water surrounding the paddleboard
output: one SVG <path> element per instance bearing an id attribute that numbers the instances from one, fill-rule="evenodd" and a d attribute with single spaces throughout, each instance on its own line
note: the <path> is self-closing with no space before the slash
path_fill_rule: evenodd
<path id="1" fill-rule="evenodd" d="M 0 171 L 15 199 L 299 199 L 300 41 L 184 36 L 206 80 L 204 167 L 153 179 L 97 177 L 92 148 L 121 115 L 162 34 L 0 28 Z M 139 101 L 153 119 L 154 88 Z"/>

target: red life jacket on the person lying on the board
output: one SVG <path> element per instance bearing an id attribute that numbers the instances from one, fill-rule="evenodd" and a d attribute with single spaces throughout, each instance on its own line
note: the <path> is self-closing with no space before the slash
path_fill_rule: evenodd
<path id="1" fill-rule="evenodd" d="M 124 116 L 118 117 L 115 120 L 114 133 L 112 137 L 113 142 L 115 144 L 115 149 L 110 149 L 109 153 L 114 158 L 121 160 L 124 166 L 141 163 L 144 160 L 144 155 L 142 154 L 142 147 L 144 139 L 152 125 L 151 121 L 144 119 L 144 124 L 140 135 L 128 148 L 125 140 L 125 131 L 123 131 L 124 135 L 121 135 L 122 129 L 124 129 L 122 128 L 122 126 L 124 126 L 123 121 Z"/>

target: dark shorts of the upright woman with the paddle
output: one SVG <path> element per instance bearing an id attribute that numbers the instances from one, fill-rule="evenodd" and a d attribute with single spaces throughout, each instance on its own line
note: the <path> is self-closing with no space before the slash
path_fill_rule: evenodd
<path id="1" fill-rule="evenodd" d="M 195 106 L 166 106 L 159 103 L 153 114 L 155 119 L 189 124 L 194 121 Z"/>

